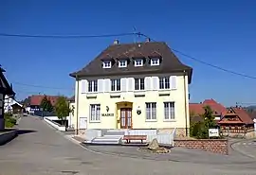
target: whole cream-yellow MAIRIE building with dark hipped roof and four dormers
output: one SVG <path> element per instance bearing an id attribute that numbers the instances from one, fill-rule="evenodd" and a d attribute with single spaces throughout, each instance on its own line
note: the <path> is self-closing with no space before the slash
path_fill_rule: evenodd
<path id="1" fill-rule="evenodd" d="M 166 43 L 115 41 L 70 76 L 76 78 L 76 129 L 189 133 L 192 68 Z"/>

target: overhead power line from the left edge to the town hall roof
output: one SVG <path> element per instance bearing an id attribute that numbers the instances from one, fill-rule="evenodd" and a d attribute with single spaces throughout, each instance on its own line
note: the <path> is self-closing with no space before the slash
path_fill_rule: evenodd
<path id="1" fill-rule="evenodd" d="M 2 37 L 19 37 L 19 38 L 48 38 L 48 39 L 82 39 L 82 38 L 107 38 L 139 35 L 139 32 L 118 33 L 118 34 L 102 34 L 102 35 L 27 35 L 27 34 L 9 34 L 0 33 Z"/>

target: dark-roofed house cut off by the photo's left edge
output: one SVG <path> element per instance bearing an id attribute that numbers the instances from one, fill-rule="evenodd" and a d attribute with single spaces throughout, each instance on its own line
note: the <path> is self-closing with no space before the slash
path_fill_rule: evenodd
<path id="1" fill-rule="evenodd" d="M 8 80 L 5 78 L 4 72 L 5 70 L 0 67 L 0 131 L 5 129 L 5 96 L 15 96 Z"/>

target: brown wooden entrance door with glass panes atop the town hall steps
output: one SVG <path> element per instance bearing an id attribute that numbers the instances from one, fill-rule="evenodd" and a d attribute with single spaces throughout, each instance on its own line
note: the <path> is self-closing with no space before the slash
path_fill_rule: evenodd
<path id="1" fill-rule="evenodd" d="M 131 108 L 120 109 L 120 128 L 121 129 L 132 128 L 132 109 Z"/>

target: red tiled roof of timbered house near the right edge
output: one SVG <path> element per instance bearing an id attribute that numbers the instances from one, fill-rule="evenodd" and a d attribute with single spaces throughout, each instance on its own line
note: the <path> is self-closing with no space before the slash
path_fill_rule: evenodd
<path id="1" fill-rule="evenodd" d="M 232 110 L 234 112 L 234 115 L 238 116 L 240 118 L 241 121 L 226 121 L 223 120 L 223 118 L 225 118 L 225 116 L 219 121 L 219 124 L 223 124 L 223 123 L 245 123 L 245 124 L 253 124 L 253 120 L 251 119 L 251 117 L 249 116 L 249 114 L 247 114 L 247 111 L 245 111 L 243 108 L 230 108 L 230 110 Z M 228 115 L 227 113 L 225 115 Z"/>

